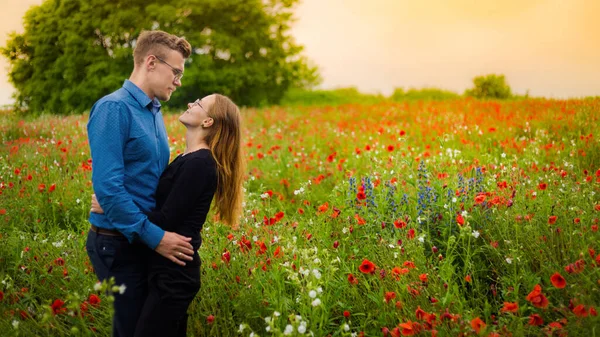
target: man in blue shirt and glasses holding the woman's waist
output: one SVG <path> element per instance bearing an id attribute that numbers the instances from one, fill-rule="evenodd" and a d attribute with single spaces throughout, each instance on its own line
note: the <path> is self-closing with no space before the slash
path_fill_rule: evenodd
<path id="1" fill-rule="evenodd" d="M 90 214 L 86 248 L 98 279 L 114 277 L 117 285 L 125 285 L 123 294 L 115 294 L 115 337 L 134 335 L 146 299 L 148 248 L 180 265 L 193 260 L 190 238 L 165 232 L 144 215 L 155 206 L 154 193 L 170 156 L 159 101 L 168 101 L 181 86 L 190 54 L 183 38 L 142 32 L 129 80 L 90 111 L 92 183 L 104 214 Z"/>

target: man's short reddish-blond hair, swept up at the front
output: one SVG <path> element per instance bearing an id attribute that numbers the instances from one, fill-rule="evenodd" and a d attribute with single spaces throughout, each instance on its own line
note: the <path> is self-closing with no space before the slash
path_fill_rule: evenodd
<path id="1" fill-rule="evenodd" d="M 169 50 L 178 51 L 184 59 L 192 54 L 192 46 L 184 38 L 161 30 L 145 30 L 137 38 L 133 49 L 133 61 L 136 65 L 140 65 L 148 55 L 156 55 L 164 59 Z"/>

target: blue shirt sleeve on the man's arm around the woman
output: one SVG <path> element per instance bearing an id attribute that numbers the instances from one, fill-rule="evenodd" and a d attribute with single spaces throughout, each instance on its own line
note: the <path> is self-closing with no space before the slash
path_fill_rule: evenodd
<path id="1" fill-rule="evenodd" d="M 94 193 L 116 230 L 129 242 L 139 238 L 155 249 L 164 230 L 150 222 L 123 185 L 123 152 L 129 137 L 130 119 L 119 102 L 101 102 L 92 108 L 87 125 L 92 155 Z"/>

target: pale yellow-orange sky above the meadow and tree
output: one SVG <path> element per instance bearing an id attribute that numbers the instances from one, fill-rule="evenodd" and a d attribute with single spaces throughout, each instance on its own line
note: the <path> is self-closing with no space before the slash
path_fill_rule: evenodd
<path id="1" fill-rule="evenodd" d="M 0 45 L 41 0 L 0 0 Z M 513 92 L 600 95 L 600 0 L 300 0 L 291 34 L 320 88 L 437 87 L 462 93 L 504 74 Z M 0 105 L 13 89 L 0 57 Z"/>

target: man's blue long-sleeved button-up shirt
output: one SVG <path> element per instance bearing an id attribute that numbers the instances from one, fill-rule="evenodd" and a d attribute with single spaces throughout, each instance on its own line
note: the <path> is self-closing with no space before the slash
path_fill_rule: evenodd
<path id="1" fill-rule="evenodd" d="M 104 210 L 91 213 L 90 222 L 155 249 L 164 231 L 144 212 L 155 207 L 154 193 L 170 156 L 159 101 L 125 80 L 94 104 L 87 131 L 92 184 Z"/>

